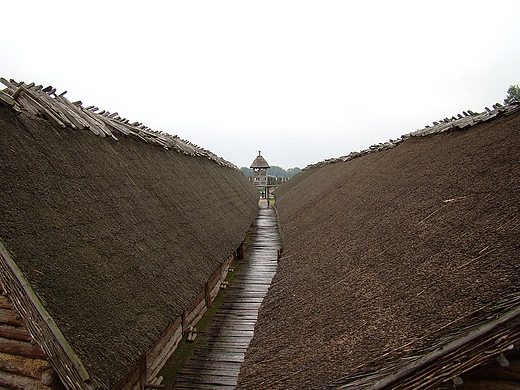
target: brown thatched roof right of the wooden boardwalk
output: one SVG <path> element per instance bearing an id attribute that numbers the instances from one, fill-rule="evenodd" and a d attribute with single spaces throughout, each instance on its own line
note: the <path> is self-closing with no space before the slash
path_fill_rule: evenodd
<path id="1" fill-rule="evenodd" d="M 435 388 L 520 340 L 520 107 L 433 127 L 275 192 L 284 254 L 239 388 L 366 388 L 419 365 L 408 388 Z"/>

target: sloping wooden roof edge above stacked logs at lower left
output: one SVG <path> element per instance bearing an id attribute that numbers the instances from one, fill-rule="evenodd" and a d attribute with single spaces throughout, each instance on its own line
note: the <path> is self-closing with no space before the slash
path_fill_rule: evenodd
<path id="1" fill-rule="evenodd" d="M 76 382 L 82 384 L 82 389 L 91 389 L 91 386 L 87 384 L 91 378 L 85 366 L 61 333 L 58 325 L 44 308 L 1 240 L 0 258 L 2 260 L 0 262 L 0 281 L 2 281 L 4 288 L 11 295 L 11 302 L 16 310 L 29 317 L 37 318 L 37 321 L 24 322 L 31 335 L 38 341 L 49 357 L 51 364 L 62 381 L 70 384 L 72 379 L 70 375 L 72 375 Z M 46 327 L 46 329 L 43 329 L 43 327 Z M 52 339 L 48 337 L 49 335 L 52 336 Z M 56 356 L 60 359 L 65 357 L 67 366 L 73 367 L 74 371 L 64 372 L 63 368 L 61 368 L 63 365 L 57 365 L 53 361 L 53 357 Z M 66 375 L 66 377 L 64 378 L 63 375 Z M 74 384 L 77 385 L 77 383 Z"/>

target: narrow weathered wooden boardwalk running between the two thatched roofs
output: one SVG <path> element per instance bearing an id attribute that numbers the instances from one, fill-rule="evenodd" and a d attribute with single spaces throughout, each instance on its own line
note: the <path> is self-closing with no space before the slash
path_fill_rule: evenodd
<path id="1" fill-rule="evenodd" d="M 174 389 L 234 389 L 253 337 L 258 309 L 276 272 L 280 236 L 276 214 L 260 204 L 255 229 L 235 278 L 211 325 L 207 342 L 179 371 Z"/>

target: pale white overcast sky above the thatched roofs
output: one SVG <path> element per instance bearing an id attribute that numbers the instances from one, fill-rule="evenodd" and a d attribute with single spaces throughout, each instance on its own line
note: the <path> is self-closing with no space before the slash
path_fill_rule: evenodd
<path id="1" fill-rule="evenodd" d="M 502 103 L 520 1 L 26 1 L 0 76 L 249 166 L 305 167 Z"/>

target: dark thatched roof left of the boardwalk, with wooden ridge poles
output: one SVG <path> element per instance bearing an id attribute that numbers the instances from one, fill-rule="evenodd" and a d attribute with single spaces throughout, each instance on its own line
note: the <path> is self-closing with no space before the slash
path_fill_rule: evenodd
<path id="1" fill-rule="evenodd" d="M 240 245 L 258 192 L 232 164 L 177 137 L 8 83 L 0 283 L 17 268 L 86 370 L 82 379 L 109 388 Z M 44 350 L 46 342 L 55 340 L 43 340 Z"/>

